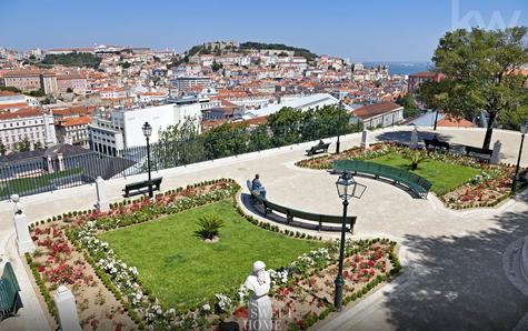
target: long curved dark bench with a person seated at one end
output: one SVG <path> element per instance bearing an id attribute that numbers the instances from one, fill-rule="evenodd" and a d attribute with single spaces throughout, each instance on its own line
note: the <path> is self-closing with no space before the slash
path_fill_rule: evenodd
<path id="1" fill-rule="evenodd" d="M 310 224 L 308 222 L 302 222 L 302 220 L 306 220 L 317 222 L 317 224 L 313 224 L 311 227 L 313 228 L 313 230 L 317 231 L 323 230 L 323 227 L 326 228 L 325 230 L 341 231 L 342 217 L 311 213 L 273 203 L 267 199 L 263 199 L 258 191 L 252 191 L 249 181 L 247 182 L 247 184 L 251 200 L 256 202 L 253 203 L 253 207 L 268 219 L 270 218 L 269 215 L 275 211 L 286 217 L 285 223 L 288 225 L 295 225 L 295 221 L 299 222 L 300 220 L 300 223 L 302 224 L 299 225 L 302 225 L 302 228 L 310 228 Z M 258 205 L 260 205 L 260 208 Z M 346 228 L 347 231 L 349 231 L 350 233 L 353 233 L 353 225 L 356 224 L 356 217 L 347 217 L 346 219 Z"/>

